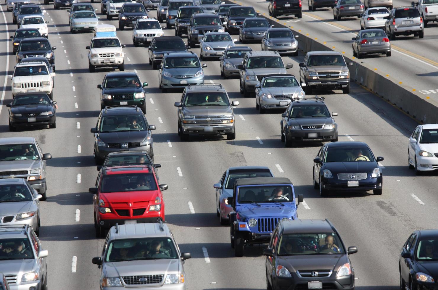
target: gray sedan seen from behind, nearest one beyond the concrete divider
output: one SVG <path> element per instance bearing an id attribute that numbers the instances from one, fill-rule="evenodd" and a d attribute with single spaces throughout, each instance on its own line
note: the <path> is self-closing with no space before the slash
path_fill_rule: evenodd
<path id="1" fill-rule="evenodd" d="M 391 43 L 382 29 L 365 29 L 353 37 L 353 56 L 361 58 L 364 54 L 381 53 L 391 56 Z"/>

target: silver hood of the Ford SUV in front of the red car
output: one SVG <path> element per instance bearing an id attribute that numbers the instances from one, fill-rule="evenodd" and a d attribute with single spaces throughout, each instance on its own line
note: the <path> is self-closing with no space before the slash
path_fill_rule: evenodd
<path id="1" fill-rule="evenodd" d="M 106 277 L 137 276 L 150 274 L 166 274 L 179 272 L 179 259 L 158 259 L 124 262 L 106 262 Z"/>

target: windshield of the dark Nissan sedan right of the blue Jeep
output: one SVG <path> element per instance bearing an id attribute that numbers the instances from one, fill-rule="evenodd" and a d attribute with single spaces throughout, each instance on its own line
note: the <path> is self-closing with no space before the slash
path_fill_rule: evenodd
<path id="1" fill-rule="evenodd" d="M 356 162 L 374 161 L 374 156 L 368 147 L 330 147 L 325 152 L 324 162 Z"/>

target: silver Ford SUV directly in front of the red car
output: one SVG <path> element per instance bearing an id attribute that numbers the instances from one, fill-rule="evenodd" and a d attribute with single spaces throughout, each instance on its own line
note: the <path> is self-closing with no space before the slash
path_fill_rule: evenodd
<path id="1" fill-rule="evenodd" d="M 170 229 L 163 223 L 111 227 L 102 255 L 92 259 L 100 268 L 100 289 L 185 289 L 184 260 Z"/>

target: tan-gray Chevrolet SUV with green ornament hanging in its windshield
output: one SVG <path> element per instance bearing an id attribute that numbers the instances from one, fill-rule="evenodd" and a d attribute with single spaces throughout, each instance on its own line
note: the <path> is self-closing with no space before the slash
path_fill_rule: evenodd
<path id="1" fill-rule="evenodd" d="M 233 106 L 222 85 L 188 86 L 176 102 L 178 107 L 178 135 L 187 141 L 189 134 L 226 135 L 228 140 L 236 138 Z"/>

